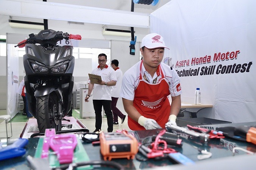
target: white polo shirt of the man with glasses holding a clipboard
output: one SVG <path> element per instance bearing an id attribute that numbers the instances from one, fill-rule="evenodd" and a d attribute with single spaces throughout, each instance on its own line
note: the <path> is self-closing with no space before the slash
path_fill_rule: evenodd
<path id="1" fill-rule="evenodd" d="M 104 82 L 117 81 L 115 70 L 108 65 L 102 70 L 98 66 L 92 70 L 92 74 L 101 76 L 101 80 Z M 111 86 L 94 84 L 92 94 L 93 100 L 111 100 Z"/>

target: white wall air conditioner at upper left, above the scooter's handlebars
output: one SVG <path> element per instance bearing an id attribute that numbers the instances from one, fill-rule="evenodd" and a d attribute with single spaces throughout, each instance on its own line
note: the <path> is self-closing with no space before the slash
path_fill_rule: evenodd
<path id="1" fill-rule="evenodd" d="M 11 28 L 44 30 L 44 23 L 39 23 L 39 22 L 9 20 L 9 25 L 11 26 Z"/>

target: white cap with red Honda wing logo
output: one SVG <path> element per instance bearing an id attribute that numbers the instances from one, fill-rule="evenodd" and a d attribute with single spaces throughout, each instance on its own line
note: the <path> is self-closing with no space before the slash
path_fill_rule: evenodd
<path id="1" fill-rule="evenodd" d="M 156 33 L 148 34 L 147 36 L 145 36 L 142 39 L 142 43 L 141 43 L 141 47 L 143 47 L 143 46 L 145 46 L 149 49 L 168 48 L 167 46 L 165 46 L 164 38 Z"/>

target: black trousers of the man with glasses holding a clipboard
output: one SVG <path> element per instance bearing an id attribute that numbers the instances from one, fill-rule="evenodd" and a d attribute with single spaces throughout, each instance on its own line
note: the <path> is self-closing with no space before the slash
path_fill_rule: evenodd
<path id="1" fill-rule="evenodd" d="M 101 129 L 102 124 L 102 106 L 107 116 L 108 132 L 113 131 L 113 114 L 111 111 L 111 100 L 92 100 L 95 111 L 95 128 L 96 130 Z"/>

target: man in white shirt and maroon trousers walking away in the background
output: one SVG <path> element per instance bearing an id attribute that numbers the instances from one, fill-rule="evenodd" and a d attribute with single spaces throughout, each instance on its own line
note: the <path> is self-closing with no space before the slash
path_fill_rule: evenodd
<path id="1" fill-rule="evenodd" d="M 111 67 L 115 70 L 116 73 L 116 78 L 117 78 L 117 83 L 115 86 L 112 86 L 111 89 L 111 109 L 113 112 L 113 126 L 118 126 L 118 117 L 121 118 L 121 124 L 125 121 L 126 115 L 124 115 L 117 107 L 117 100 L 120 96 L 120 91 L 121 91 L 121 85 L 122 85 L 122 78 L 123 78 L 123 72 L 122 70 L 118 67 L 119 61 L 114 59 L 111 61 Z"/>

